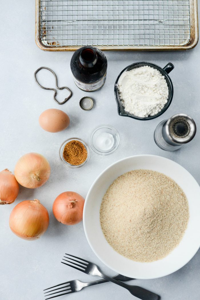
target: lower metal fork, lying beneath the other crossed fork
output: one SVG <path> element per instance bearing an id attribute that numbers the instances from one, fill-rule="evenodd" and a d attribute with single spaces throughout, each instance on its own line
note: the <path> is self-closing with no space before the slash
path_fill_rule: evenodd
<path id="1" fill-rule="evenodd" d="M 133 280 L 133 278 L 126 277 L 121 274 L 115 275 L 114 278 L 117 280 L 121 280 L 121 281 Z M 99 280 L 90 281 L 90 282 L 82 282 L 82 281 L 76 279 L 76 280 L 71 280 L 68 282 L 63 282 L 63 283 L 57 284 L 55 286 L 49 287 L 48 289 L 44 289 L 44 291 L 48 290 L 47 292 L 45 292 L 45 294 L 50 293 L 48 295 L 45 295 L 45 297 L 53 295 L 52 297 L 46 298 L 46 300 L 47 300 L 47 299 L 51 299 L 51 298 L 55 298 L 55 297 L 59 297 L 59 296 L 63 296 L 63 295 L 68 295 L 70 293 L 79 292 L 84 287 L 95 285 L 95 284 L 100 284 L 100 283 L 104 283 L 104 282 L 108 282 L 108 280 L 99 279 Z M 56 288 L 56 289 L 54 289 L 54 288 Z"/>

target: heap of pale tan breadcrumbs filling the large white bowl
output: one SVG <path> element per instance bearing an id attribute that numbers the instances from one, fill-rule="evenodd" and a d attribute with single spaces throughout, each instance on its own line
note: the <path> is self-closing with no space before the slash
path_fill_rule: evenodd
<path id="1" fill-rule="evenodd" d="M 188 201 L 181 187 L 152 170 L 119 176 L 100 207 L 101 228 L 108 243 L 137 262 L 166 257 L 180 243 L 188 220 Z"/>

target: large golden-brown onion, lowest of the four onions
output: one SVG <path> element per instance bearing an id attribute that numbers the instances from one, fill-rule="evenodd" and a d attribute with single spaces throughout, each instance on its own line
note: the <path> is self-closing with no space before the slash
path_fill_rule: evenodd
<path id="1" fill-rule="evenodd" d="M 25 200 L 17 204 L 10 214 L 10 229 L 25 240 L 36 240 L 49 226 L 49 214 L 39 200 Z"/>

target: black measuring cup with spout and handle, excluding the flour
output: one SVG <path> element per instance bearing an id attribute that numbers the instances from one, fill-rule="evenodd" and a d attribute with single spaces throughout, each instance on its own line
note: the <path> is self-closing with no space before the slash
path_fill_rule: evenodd
<path id="1" fill-rule="evenodd" d="M 119 90 L 118 90 L 118 87 L 117 87 L 119 77 L 121 76 L 121 74 L 123 72 L 130 71 L 132 69 L 143 67 L 143 66 L 149 66 L 149 67 L 152 67 L 152 68 L 157 69 L 158 71 L 160 71 L 160 73 L 165 77 L 166 82 L 167 82 L 167 86 L 168 86 L 168 89 L 169 89 L 169 96 L 168 96 L 168 99 L 167 99 L 167 103 L 162 108 L 162 110 L 160 110 L 160 112 L 157 113 L 154 116 L 148 116 L 148 117 L 145 117 L 145 118 L 135 116 L 135 115 L 133 115 L 133 114 L 131 114 L 131 113 L 124 110 L 124 106 L 123 106 L 123 104 L 121 102 L 121 99 L 119 97 Z M 118 75 L 116 81 L 115 81 L 115 89 L 114 89 L 115 99 L 116 99 L 117 106 L 118 106 L 118 114 L 120 116 L 130 117 L 130 118 L 137 119 L 137 120 L 152 120 L 152 119 L 155 119 L 155 118 L 161 116 L 168 109 L 168 107 L 170 106 L 170 104 L 172 102 L 174 90 L 173 90 L 172 80 L 170 79 L 168 74 L 173 69 L 174 69 L 174 65 L 171 62 L 169 62 L 164 68 L 161 68 L 157 64 L 153 64 L 151 62 L 146 62 L 146 61 L 140 61 L 140 62 L 136 62 L 134 64 L 130 64 L 128 67 L 126 67 L 124 70 L 122 70 L 121 73 Z"/>

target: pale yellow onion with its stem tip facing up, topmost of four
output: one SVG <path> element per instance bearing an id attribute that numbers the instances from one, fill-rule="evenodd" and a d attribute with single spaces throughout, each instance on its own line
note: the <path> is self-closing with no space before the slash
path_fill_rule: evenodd
<path id="1" fill-rule="evenodd" d="M 19 158 L 14 170 L 16 180 L 23 187 L 28 188 L 36 188 L 45 184 L 50 172 L 50 165 L 46 158 L 34 152 Z"/>

